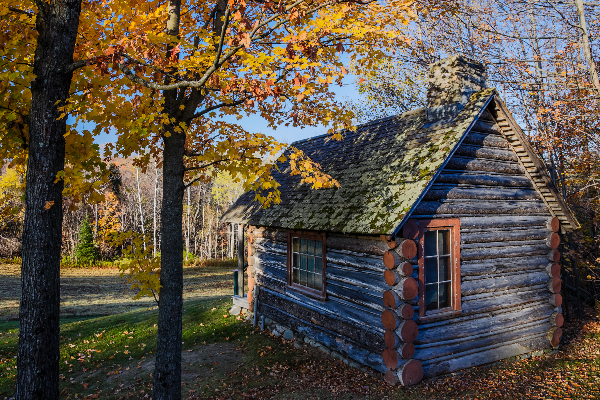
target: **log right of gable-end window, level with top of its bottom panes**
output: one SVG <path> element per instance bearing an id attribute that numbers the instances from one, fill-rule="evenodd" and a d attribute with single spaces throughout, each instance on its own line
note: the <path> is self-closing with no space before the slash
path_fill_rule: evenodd
<path id="1" fill-rule="evenodd" d="M 463 282 L 461 282 L 461 296 L 485 293 L 487 291 L 539 285 L 548 281 L 548 275 L 542 269 L 494 275 L 469 276 L 468 278 L 469 280 L 463 280 Z"/>

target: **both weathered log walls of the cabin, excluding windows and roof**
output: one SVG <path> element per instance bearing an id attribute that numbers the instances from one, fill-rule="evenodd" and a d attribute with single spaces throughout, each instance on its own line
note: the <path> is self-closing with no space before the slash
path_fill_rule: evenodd
<path id="1" fill-rule="evenodd" d="M 331 233 L 326 301 L 287 286 L 287 233 L 249 228 L 259 313 L 410 384 L 557 345 L 559 219 L 502 116 L 486 110 L 416 206 L 404 237 Z M 460 218 L 461 313 L 419 321 L 415 226 Z"/>

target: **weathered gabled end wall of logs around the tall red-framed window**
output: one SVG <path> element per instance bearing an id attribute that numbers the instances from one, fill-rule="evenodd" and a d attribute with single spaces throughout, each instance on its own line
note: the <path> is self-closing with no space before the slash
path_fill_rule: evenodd
<path id="1" fill-rule="evenodd" d="M 417 223 L 461 221 L 462 312 L 416 320 L 413 357 L 425 377 L 542 350 L 562 333 L 562 299 L 553 296 L 560 291 L 558 220 L 507 140 L 505 119 L 488 110 L 412 215 Z"/>

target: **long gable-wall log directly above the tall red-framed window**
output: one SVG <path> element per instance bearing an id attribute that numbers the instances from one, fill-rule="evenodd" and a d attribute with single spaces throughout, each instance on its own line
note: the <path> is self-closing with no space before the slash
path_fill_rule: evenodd
<path id="1" fill-rule="evenodd" d="M 535 201 L 421 201 L 416 206 L 416 215 L 442 215 L 442 214 L 509 214 L 509 213 L 542 213 L 546 212 L 547 208 L 541 200 Z"/>

